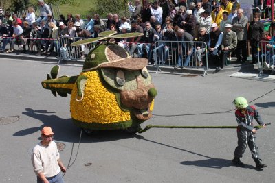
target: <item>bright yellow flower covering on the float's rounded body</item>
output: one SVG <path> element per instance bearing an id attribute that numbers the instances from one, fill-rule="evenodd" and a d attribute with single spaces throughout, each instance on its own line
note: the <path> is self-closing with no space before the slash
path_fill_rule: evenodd
<path id="1" fill-rule="evenodd" d="M 122 111 L 115 99 L 115 94 L 110 93 L 102 85 L 97 71 L 88 71 L 80 75 L 85 75 L 88 79 L 82 101 L 76 100 L 80 98 L 77 95 L 76 85 L 72 90 L 71 115 L 73 119 L 102 124 L 131 120 L 130 112 Z"/>

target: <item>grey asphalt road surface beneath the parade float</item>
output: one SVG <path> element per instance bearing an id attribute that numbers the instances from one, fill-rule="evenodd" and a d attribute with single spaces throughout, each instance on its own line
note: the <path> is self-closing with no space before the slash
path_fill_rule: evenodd
<path id="1" fill-rule="evenodd" d="M 19 121 L 0 125 L 0 182 L 36 182 L 30 153 L 39 143 L 43 125 L 50 125 L 56 142 L 65 144 L 61 159 L 67 166 L 76 157 L 80 130 L 72 124 L 69 97 L 54 97 L 41 86 L 52 63 L 0 58 L 0 117 Z M 81 66 L 62 65 L 62 75 L 77 75 Z M 155 114 L 146 125 L 236 125 L 232 100 L 252 101 L 275 88 L 273 82 L 244 80 L 218 73 L 206 77 L 152 74 L 158 90 Z M 275 122 L 275 91 L 252 104 L 263 121 Z M 188 115 L 187 115 L 188 114 Z M 193 114 L 193 115 L 192 115 Z M 171 115 L 171 116 L 167 116 Z M 178 116 L 173 116 L 178 115 Z M 275 123 L 256 134 L 263 171 L 254 169 L 249 149 L 241 159 L 230 160 L 236 147 L 236 130 L 151 129 L 131 136 L 104 131 L 83 134 L 76 161 L 65 174 L 66 182 L 274 182 Z M 89 166 L 85 166 L 89 165 Z"/>

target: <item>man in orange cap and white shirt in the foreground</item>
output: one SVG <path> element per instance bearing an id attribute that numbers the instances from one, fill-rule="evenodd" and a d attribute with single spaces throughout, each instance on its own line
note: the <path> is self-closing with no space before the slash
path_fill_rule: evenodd
<path id="1" fill-rule="evenodd" d="M 37 175 L 37 182 L 63 183 L 61 171 L 66 167 L 59 158 L 57 145 L 52 138 L 54 132 L 51 127 L 43 127 L 41 130 L 42 141 L 32 149 L 32 165 Z"/>

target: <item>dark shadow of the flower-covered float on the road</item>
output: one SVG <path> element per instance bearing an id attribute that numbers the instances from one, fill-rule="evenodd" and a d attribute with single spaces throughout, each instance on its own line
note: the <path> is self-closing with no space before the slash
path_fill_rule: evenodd
<path id="1" fill-rule="evenodd" d="M 42 124 L 37 127 L 30 127 L 19 132 L 15 132 L 13 136 L 26 136 L 39 132 L 44 126 L 52 127 L 54 131 L 54 140 L 77 143 L 80 136 L 80 128 L 72 123 L 72 119 L 62 119 L 56 115 L 55 112 L 47 112 L 47 110 L 33 110 L 32 108 L 25 108 L 22 114 L 41 121 Z M 94 136 L 87 136 L 83 133 L 81 143 L 98 143 L 105 141 L 117 141 L 119 139 L 134 138 L 137 135 L 127 134 L 123 130 L 102 130 L 98 131 Z"/>

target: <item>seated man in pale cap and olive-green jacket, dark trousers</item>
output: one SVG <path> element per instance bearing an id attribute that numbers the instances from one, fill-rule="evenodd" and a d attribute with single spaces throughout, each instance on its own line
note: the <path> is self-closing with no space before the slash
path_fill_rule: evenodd
<path id="1" fill-rule="evenodd" d="M 232 25 L 226 24 L 225 30 L 226 33 L 223 35 L 221 50 L 219 51 L 219 55 L 221 55 L 221 60 L 217 69 L 223 69 L 223 66 L 228 60 L 229 54 L 234 51 L 234 49 L 236 49 L 236 45 L 238 43 L 236 32 L 232 31 Z"/>

